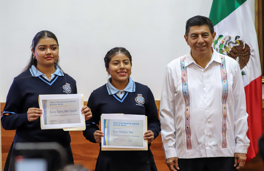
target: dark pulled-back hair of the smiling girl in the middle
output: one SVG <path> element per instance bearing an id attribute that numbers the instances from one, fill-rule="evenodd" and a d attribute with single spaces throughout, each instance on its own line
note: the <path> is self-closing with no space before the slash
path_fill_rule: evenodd
<path id="1" fill-rule="evenodd" d="M 131 57 L 130 53 L 128 52 L 128 50 L 126 50 L 126 48 L 122 48 L 122 47 L 115 47 L 115 48 L 112 48 L 110 51 L 108 51 L 105 55 L 104 61 L 105 61 L 105 67 L 107 69 L 109 69 L 109 62 L 111 61 L 112 57 L 114 57 L 118 53 L 122 53 L 125 56 L 127 56 L 130 60 L 131 66 L 132 66 L 132 57 Z"/>

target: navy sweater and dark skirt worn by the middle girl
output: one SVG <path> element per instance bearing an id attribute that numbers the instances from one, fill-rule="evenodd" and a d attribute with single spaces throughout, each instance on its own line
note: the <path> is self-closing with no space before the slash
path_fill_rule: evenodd
<path id="1" fill-rule="evenodd" d="M 93 133 L 99 129 L 97 124 L 102 113 L 146 115 L 148 130 L 152 130 L 154 138 L 161 130 L 153 94 L 147 86 L 140 83 L 135 82 L 135 92 L 126 92 L 121 99 L 117 95 L 109 95 L 105 84 L 91 93 L 87 106 L 91 108 L 93 116 L 86 121 L 83 135 L 94 143 Z M 150 148 L 148 151 L 101 151 L 100 148 L 95 170 L 157 171 L 157 168 Z"/>

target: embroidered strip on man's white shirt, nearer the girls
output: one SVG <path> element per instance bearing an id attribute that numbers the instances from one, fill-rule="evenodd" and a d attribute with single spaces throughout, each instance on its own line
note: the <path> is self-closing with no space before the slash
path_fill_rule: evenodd
<path id="1" fill-rule="evenodd" d="M 186 57 L 181 58 L 182 92 L 185 100 L 185 130 L 187 149 L 192 149 L 191 127 L 190 127 L 190 95 L 188 91 L 187 69 L 185 67 Z"/>

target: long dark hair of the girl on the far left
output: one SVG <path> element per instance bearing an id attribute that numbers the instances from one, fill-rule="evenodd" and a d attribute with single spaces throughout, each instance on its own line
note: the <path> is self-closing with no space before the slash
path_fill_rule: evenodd
<path id="1" fill-rule="evenodd" d="M 52 33 L 51 31 L 43 30 L 43 31 L 38 32 L 38 33 L 34 36 L 34 38 L 33 38 L 33 40 L 32 40 L 31 49 L 33 50 L 33 52 L 35 52 L 35 48 L 36 48 L 37 44 L 39 43 L 40 39 L 42 39 L 42 38 L 53 38 L 53 39 L 56 41 L 56 43 L 58 44 L 58 48 L 59 48 L 58 39 L 57 39 L 57 37 L 55 36 L 55 34 Z M 27 63 L 27 66 L 23 69 L 23 72 L 29 70 L 29 69 L 31 68 L 32 65 L 34 65 L 35 67 L 37 66 L 37 60 L 34 59 L 33 57 L 34 57 L 34 54 L 32 53 L 32 54 L 31 54 L 31 57 L 30 57 L 30 59 L 29 59 L 29 62 Z M 55 66 L 58 66 L 58 67 L 60 68 L 60 65 L 59 65 L 59 58 L 58 58 L 58 60 L 55 62 L 54 67 L 55 67 Z M 62 68 L 60 68 L 60 69 L 62 70 Z M 62 70 L 62 72 L 64 72 L 64 71 Z"/>

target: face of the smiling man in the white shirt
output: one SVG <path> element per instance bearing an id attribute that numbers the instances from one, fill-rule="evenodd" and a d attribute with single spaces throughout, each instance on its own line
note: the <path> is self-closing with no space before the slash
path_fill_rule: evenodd
<path id="1" fill-rule="evenodd" d="M 191 48 L 193 57 L 206 56 L 211 53 L 215 32 L 211 34 L 208 26 L 192 26 L 188 36 L 184 35 L 185 41 Z"/>

